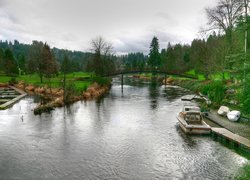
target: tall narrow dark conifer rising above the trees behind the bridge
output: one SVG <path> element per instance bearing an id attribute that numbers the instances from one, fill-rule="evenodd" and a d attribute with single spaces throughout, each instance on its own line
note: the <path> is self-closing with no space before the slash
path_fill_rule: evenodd
<path id="1" fill-rule="evenodd" d="M 154 68 L 159 68 L 161 65 L 161 56 L 159 53 L 159 42 L 157 37 L 153 37 L 150 44 L 148 64 Z"/>

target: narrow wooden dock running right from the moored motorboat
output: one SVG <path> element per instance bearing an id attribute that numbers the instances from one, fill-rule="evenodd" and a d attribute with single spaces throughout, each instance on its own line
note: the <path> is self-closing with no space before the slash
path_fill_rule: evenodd
<path id="1" fill-rule="evenodd" d="M 225 128 L 211 128 L 213 136 L 224 138 L 228 142 L 232 142 L 235 146 L 250 152 L 250 140 L 242 136 L 232 133 Z"/>

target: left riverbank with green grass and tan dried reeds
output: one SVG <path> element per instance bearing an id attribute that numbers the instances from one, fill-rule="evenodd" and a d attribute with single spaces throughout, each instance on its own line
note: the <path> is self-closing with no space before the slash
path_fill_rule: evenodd
<path id="1" fill-rule="evenodd" d="M 13 85 L 29 95 L 40 96 L 41 103 L 34 109 L 35 114 L 50 112 L 56 107 L 77 101 L 97 99 L 110 89 L 109 79 L 95 77 L 91 73 L 67 74 L 64 89 L 62 79 L 63 76 L 58 75 L 50 79 L 44 78 L 41 83 L 37 74 L 17 77 L 0 76 L 0 86 Z"/>

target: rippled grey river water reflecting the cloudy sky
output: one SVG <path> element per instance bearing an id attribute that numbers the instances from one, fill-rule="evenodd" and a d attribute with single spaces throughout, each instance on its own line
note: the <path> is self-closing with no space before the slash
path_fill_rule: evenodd
<path id="1" fill-rule="evenodd" d="M 27 97 L 0 111 L 0 179 L 230 179 L 249 160 L 181 131 L 176 114 L 187 94 L 114 83 L 101 100 L 41 116 Z"/>

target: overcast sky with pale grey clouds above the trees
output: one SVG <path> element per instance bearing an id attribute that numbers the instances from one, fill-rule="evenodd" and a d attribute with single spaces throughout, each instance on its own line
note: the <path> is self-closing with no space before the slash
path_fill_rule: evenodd
<path id="1" fill-rule="evenodd" d="M 89 51 L 103 36 L 117 53 L 148 52 L 153 36 L 190 43 L 216 0 L 0 0 L 0 39 Z"/>

